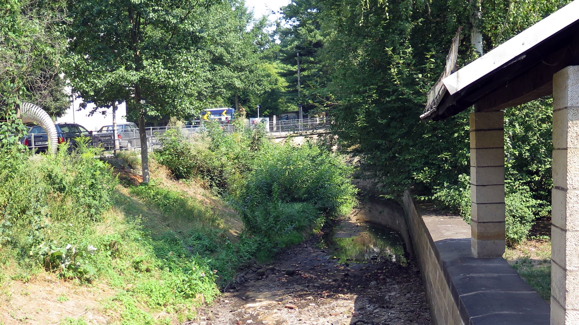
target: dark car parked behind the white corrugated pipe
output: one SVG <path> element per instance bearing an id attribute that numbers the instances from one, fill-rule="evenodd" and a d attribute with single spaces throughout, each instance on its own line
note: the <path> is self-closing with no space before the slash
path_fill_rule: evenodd
<path id="1" fill-rule="evenodd" d="M 58 143 L 69 141 L 69 149 L 71 150 L 76 146 L 75 138 L 79 136 L 91 138 L 92 146 L 104 145 L 100 136 L 93 135 L 93 132 L 86 130 L 86 128 L 80 124 L 58 123 L 54 124 L 54 127 L 56 127 Z M 22 140 L 22 143 L 30 149 L 35 150 L 35 152 L 46 152 L 46 149 L 48 149 L 48 135 L 43 127 L 35 125 L 28 130 L 28 135 Z"/>

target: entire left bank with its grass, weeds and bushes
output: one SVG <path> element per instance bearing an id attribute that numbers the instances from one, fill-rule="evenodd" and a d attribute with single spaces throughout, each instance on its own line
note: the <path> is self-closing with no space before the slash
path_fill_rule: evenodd
<path id="1" fill-rule="evenodd" d="M 176 180 L 152 161 L 147 185 L 130 154 L 102 161 L 82 144 L 56 156 L 0 148 L 0 320 L 199 319 L 240 268 L 347 213 L 355 191 L 339 157 L 243 132 L 186 147 L 196 176 Z"/>

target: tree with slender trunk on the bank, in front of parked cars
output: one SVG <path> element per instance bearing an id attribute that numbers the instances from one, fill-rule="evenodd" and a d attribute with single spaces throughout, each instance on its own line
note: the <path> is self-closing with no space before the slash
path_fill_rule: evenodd
<path id="1" fill-rule="evenodd" d="M 145 120 L 195 115 L 212 93 L 199 21 L 210 3 L 69 1 L 73 90 L 98 107 L 126 102 L 138 119 L 143 182 L 149 181 Z"/>

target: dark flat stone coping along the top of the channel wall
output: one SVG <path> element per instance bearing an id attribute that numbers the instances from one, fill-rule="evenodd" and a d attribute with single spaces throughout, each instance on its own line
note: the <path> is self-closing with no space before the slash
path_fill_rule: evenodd
<path id="1" fill-rule="evenodd" d="M 419 212 L 464 324 L 549 325 L 547 302 L 504 258 L 472 256 L 471 228 L 461 217 Z"/>

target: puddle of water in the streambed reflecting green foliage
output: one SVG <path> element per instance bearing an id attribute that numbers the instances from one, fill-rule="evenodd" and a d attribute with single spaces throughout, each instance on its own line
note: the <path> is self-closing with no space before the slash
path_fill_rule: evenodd
<path id="1" fill-rule="evenodd" d="M 369 221 L 346 221 L 325 235 L 323 241 L 340 262 L 387 259 L 401 265 L 408 263 L 400 234 Z"/>

